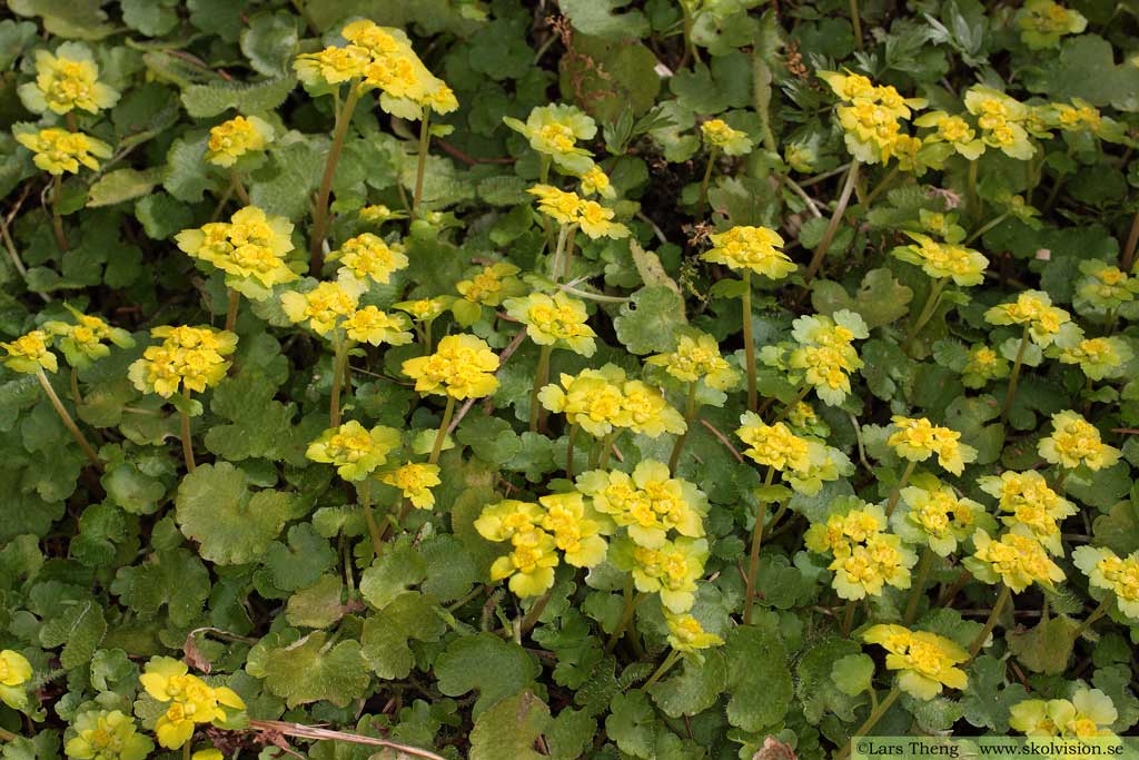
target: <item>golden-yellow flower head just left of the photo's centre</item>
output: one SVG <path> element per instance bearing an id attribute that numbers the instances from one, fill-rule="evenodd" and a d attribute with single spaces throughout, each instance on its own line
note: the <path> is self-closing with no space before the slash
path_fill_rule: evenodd
<path id="1" fill-rule="evenodd" d="M 486 341 L 474 335 L 448 335 L 435 353 L 403 362 L 403 374 L 416 381 L 419 393 L 452 399 L 481 399 L 498 389 L 499 359 Z"/>

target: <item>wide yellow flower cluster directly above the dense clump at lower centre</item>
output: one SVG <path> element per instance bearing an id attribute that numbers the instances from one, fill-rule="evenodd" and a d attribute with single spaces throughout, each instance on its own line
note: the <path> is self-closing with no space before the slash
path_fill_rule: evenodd
<path id="1" fill-rule="evenodd" d="M 649 438 L 679 435 L 688 427 L 659 391 L 628 379 L 624 370 L 614 365 L 563 374 L 558 383 L 542 387 L 538 400 L 548 411 L 564 414 L 566 422 L 595 438 L 622 428 Z"/>

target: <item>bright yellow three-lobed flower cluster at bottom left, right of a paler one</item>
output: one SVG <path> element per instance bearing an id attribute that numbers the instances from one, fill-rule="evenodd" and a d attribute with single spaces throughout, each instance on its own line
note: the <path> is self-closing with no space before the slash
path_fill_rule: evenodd
<path id="1" fill-rule="evenodd" d="M 146 693 L 162 703 L 170 703 L 154 727 L 158 744 L 177 750 L 194 735 L 202 724 L 222 725 L 231 710 L 245 710 L 245 702 L 233 689 L 211 687 L 197 676 L 188 675 L 186 663 L 171 657 L 151 657 L 146 672 L 139 676 Z"/>

